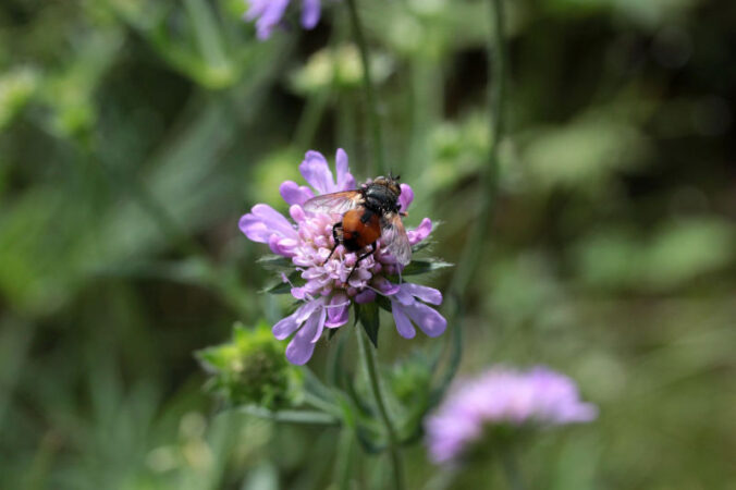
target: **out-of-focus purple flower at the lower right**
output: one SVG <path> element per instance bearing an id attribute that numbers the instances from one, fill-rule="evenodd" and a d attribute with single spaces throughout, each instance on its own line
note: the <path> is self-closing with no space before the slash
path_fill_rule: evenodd
<path id="1" fill-rule="evenodd" d="M 461 382 L 426 421 L 434 463 L 457 462 L 491 426 L 587 422 L 598 408 L 580 401 L 575 381 L 545 367 L 520 371 L 492 367 Z"/>

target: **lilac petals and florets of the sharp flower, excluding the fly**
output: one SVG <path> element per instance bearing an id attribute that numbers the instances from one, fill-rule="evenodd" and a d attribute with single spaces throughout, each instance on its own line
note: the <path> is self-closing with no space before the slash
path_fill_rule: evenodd
<path id="1" fill-rule="evenodd" d="M 347 322 L 353 302 L 369 303 L 378 294 L 391 302 L 396 330 L 404 338 L 412 339 L 416 334 L 414 326 L 429 336 L 440 335 L 447 326 L 446 320 L 427 305 L 441 304 L 442 293 L 419 284 L 394 284 L 388 279 L 401 273 L 401 266 L 381 246 L 380 240 L 376 252 L 358 262 L 352 275 L 357 254 L 348 253 L 340 245 L 327 260 L 334 247 L 332 226 L 335 217 L 307 215 L 302 206 L 315 195 L 356 188 L 345 151 L 339 149 L 335 160 L 336 180 L 321 154 L 307 151 L 299 171 L 310 187 L 292 181 L 281 184 L 281 196 L 291 205 L 289 213 L 293 223 L 265 204 L 254 206 L 240 222 L 241 230 L 249 240 L 266 243 L 274 254 L 291 259 L 304 280 L 304 284 L 292 285 L 291 290 L 292 296 L 303 303 L 292 315 L 273 326 L 277 339 L 294 335 L 286 347 L 286 358 L 299 365 L 309 360 L 324 328 L 334 329 Z M 400 203 L 402 211 L 405 211 L 414 199 L 414 192 L 406 184 L 401 184 L 401 188 Z M 407 231 L 409 243 L 418 244 L 431 231 L 432 222 L 425 218 L 419 226 Z M 289 281 L 285 274 L 282 279 Z"/>

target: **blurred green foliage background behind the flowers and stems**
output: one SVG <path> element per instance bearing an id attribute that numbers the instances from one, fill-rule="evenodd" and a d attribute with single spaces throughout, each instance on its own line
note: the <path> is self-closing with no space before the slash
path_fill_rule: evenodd
<path id="1" fill-rule="evenodd" d="M 507 2 L 502 142 L 488 137 L 483 2 L 359 3 L 389 161 L 417 196 L 408 224 L 442 221 L 432 254 L 458 259 L 501 145 L 462 372 L 545 363 L 601 407 L 535 441 L 527 481 L 735 488 L 736 3 Z M 373 173 L 340 2 L 317 29 L 293 22 L 268 42 L 244 11 L 2 2 L 0 488 L 332 480 L 336 429 L 217 415 L 193 357 L 285 306 L 259 293 L 274 278 L 240 215 L 281 203 L 309 148 L 343 147 L 360 180 Z M 418 354 L 406 357 L 421 344 L 382 329 L 380 357 L 404 359 L 391 371 L 402 397 L 421 395 Z M 421 488 L 437 469 L 421 445 L 407 456 Z M 358 458 L 356 488 L 377 461 Z M 480 488 L 488 474 L 466 477 Z"/>

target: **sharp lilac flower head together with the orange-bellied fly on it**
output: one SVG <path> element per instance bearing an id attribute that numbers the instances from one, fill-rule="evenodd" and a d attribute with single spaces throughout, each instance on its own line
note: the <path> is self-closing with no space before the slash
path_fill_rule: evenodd
<path id="1" fill-rule="evenodd" d="M 336 180 L 321 154 L 307 151 L 299 171 L 310 187 L 281 184 L 293 222 L 265 204 L 240 221 L 249 240 L 268 244 L 289 260 L 291 270 L 282 271 L 282 280 L 300 304 L 272 331 L 280 340 L 294 334 L 286 347 L 293 364 L 309 360 L 324 328 L 347 323 L 353 303 L 387 299 L 396 330 L 406 339 L 415 336 L 415 324 L 429 336 L 446 328 L 444 317 L 428 306 L 441 304 L 442 294 L 401 278 L 412 247 L 432 231 L 428 218 L 416 229 L 404 229 L 402 215 L 414 200 L 412 187 L 392 176 L 358 187 L 345 151 L 339 149 L 335 160 Z"/>

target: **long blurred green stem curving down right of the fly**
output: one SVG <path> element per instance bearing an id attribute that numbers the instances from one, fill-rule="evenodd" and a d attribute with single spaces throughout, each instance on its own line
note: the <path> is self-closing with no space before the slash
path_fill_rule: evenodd
<path id="1" fill-rule="evenodd" d="M 490 107 L 490 150 L 488 164 L 481 169 L 480 185 L 481 200 L 478 209 L 477 223 L 473 226 L 471 235 L 463 250 L 455 275 L 451 284 L 451 291 L 456 297 L 462 297 L 473 273 L 477 270 L 481 247 L 488 236 L 488 229 L 493 217 L 493 203 L 499 189 L 499 145 L 504 132 L 504 102 L 506 60 L 504 50 L 504 9 L 503 0 L 489 0 L 492 30 L 488 38 L 488 72 L 493 75 L 492 84 L 489 84 Z"/>

